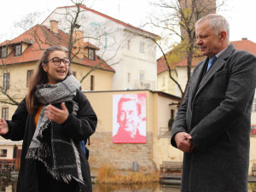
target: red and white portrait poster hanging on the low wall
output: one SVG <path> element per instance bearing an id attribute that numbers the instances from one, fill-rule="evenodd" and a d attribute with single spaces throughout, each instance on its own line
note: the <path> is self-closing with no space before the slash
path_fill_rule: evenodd
<path id="1" fill-rule="evenodd" d="M 146 94 L 113 95 L 113 143 L 146 143 Z"/>

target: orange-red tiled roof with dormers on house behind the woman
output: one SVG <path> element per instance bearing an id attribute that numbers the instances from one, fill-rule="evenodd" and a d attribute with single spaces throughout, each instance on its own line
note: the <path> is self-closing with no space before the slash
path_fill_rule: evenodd
<path id="1" fill-rule="evenodd" d="M 46 26 L 37 25 L 24 32 L 17 38 L 14 38 L 13 40 L 3 42 L 0 44 L 0 46 L 7 44 L 18 44 L 22 42 L 31 45 L 28 46 L 27 49 L 24 50 L 24 52 L 19 56 L 15 56 L 14 51 L 12 51 L 7 58 L 0 60 L 0 64 L 8 65 L 30 61 L 39 61 L 44 53 L 44 49 L 48 48 L 49 46 L 61 46 L 67 48 L 68 35 L 64 32 L 61 32 L 61 30 L 59 30 L 58 34 L 54 34 L 53 32 L 50 32 Z M 91 44 L 91 46 L 94 45 Z M 104 70 L 114 72 L 112 67 L 108 66 L 105 61 L 102 61 L 102 59 L 98 57 L 96 58 L 96 61 L 90 61 L 88 59 L 81 60 L 75 57 L 73 62 L 82 64 L 87 67 L 97 67 L 99 64 L 101 64 L 99 68 L 103 67 Z"/>

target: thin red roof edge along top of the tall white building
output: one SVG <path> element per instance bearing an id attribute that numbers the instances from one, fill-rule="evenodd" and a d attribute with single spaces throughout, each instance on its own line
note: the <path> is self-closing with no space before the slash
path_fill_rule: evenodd
<path id="1" fill-rule="evenodd" d="M 76 5 L 65 6 L 65 7 L 58 7 L 58 8 L 56 8 L 56 9 L 63 9 L 63 8 L 64 8 L 64 9 L 67 9 L 67 8 L 74 8 L 74 7 L 76 7 Z M 147 32 L 147 31 L 145 31 L 145 30 L 143 30 L 143 29 L 140 29 L 140 28 L 138 28 L 138 27 L 136 27 L 136 26 L 131 26 L 130 24 L 125 23 L 125 22 L 123 22 L 123 21 L 121 21 L 121 20 L 117 20 L 117 19 L 114 19 L 113 17 L 110 17 L 110 16 L 108 16 L 108 15 L 104 15 L 104 14 L 102 14 L 102 13 L 100 13 L 100 12 L 94 10 L 94 9 L 89 9 L 89 8 L 87 8 L 85 5 L 80 5 L 80 7 L 83 8 L 83 9 L 85 9 L 85 10 L 88 10 L 88 11 L 90 11 L 90 12 L 92 12 L 92 13 L 95 13 L 96 15 L 101 15 L 102 17 L 105 17 L 105 18 L 107 18 L 108 20 L 113 20 L 114 22 L 119 23 L 119 24 L 122 25 L 122 26 L 131 27 L 131 28 L 136 29 L 136 30 L 141 31 L 141 32 Z M 56 10 L 56 9 L 55 9 L 55 10 Z M 54 10 L 50 15 L 52 15 L 52 14 L 55 12 L 55 10 Z M 48 18 L 49 18 L 49 16 L 48 16 L 45 20 L 47 20 Z M 45 21 L 45 20 L 44 20 L 44 21 Z M 44 21 L 42 22 L 42 24 L 44 23 Z M 156 35 L 156 34 L 154 34 L 154 33 L 152 33 L 152 32 L 147 32 L 147 33 L 150 34 L 150 35 L 152 35 L 152 36 L 154 36 L 154 38 L 159 38 L 158 35 Z"/>

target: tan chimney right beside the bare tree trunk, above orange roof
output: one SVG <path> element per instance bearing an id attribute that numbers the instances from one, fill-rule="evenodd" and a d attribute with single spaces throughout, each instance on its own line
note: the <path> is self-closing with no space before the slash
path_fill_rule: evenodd
<path id="1" fill-rule="evenodd" d="M 84 58 L 84 32 L 76 30 L 73 32 L 73 54 L 80 59 Z"/>

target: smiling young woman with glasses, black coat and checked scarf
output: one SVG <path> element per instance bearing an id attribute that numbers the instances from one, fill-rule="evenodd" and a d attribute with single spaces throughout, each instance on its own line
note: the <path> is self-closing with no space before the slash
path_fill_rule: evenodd
<path id="1" fill-rule="evenodd" d="M 80 141 L 96 130 L 96 113 L 60 47 L 45 49 L 26 98 L 0 134 L 23 140 L 17 192 L 90 192 Z"/>

